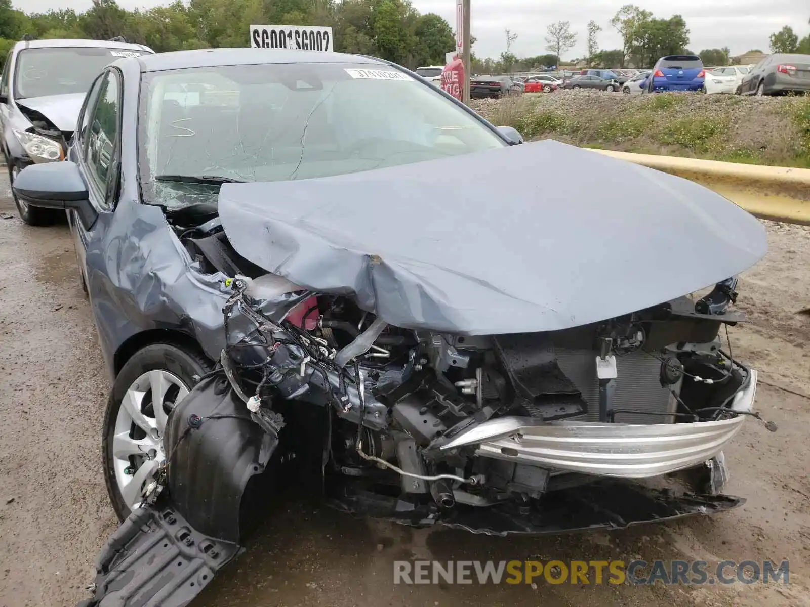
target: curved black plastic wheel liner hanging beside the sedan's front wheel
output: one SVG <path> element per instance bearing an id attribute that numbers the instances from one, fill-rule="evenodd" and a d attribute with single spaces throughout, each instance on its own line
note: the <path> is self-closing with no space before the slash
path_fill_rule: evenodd
<path id="1" fill-rule="evenodd" d="M 168 418 L 164 451 L 173 507 L 199 533 L 241 541 L 254 489 L 272 483 L 270 471 L 262 473 L 278 444 L 250 418 L 224 373 L 209 374 Z"/>

